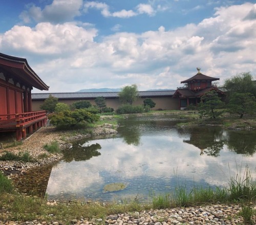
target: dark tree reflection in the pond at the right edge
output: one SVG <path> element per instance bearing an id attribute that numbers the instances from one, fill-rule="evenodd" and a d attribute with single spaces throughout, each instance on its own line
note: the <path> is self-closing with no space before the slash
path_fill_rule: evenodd
<path id="1" fill-rule="evenodd" d="M 250 132 L 250 133 L 249 133 Z M 237 154 L 251 156 L 256 152 L 256 138 L 253 131 L 230 131 L 228 149 Z"/>

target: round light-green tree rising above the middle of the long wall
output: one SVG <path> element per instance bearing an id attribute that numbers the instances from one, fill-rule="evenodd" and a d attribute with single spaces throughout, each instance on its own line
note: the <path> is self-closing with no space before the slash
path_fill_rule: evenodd
<path id="1" fill-rule="evenodd" d="M 138 87 L 136 84 L 125 86 L 118 95 L 122 103 L 133 105 L 133 102 L 139 97 Z"/>

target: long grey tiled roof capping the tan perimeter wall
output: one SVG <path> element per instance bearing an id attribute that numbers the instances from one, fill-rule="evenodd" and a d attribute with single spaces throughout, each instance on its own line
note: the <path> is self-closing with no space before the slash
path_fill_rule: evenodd
<path id="1" fill-rule="evenodd" d="M 71 92 L 71 93 L 32 93 L 32 101 L 44 101 L 50 95 L 58 99 L 94 99 L 96 97 L 118 98 L 119 92 Z M 139 91 L 140 97 L 172 97 L 174 91 Z"/>

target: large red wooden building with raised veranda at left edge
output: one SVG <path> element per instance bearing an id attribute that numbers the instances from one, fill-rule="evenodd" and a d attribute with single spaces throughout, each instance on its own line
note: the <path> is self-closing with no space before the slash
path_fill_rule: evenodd
<path id="1" fill-rule="evenodd" d="M 31 90 L 48 90 L 26 59 L 0 53 L 0 132 L 19 141 L 46 125 L 46 111 L 32 112 Z"/>

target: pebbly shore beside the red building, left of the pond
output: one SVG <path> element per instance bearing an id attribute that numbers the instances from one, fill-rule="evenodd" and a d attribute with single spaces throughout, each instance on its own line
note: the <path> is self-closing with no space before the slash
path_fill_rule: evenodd
<path id="1" fill-rule="evenodd" d="M 61 151 L 71 146 L 71 142 L 75 140 L 90 138 L 92 136 L 116 134 L 117 131 L 112 129 L 112 126 L 113 124 L 106 123 L 103 124 L 103 126 L 93 128 L 91 134 L 78 135 L 72 135 L 72 131 L 58 131 L 54 127 L 40 128 L 26 138 L 21 145 L 0 149 L 0 156 L 5 154 L 5 152 L 10 152 L 15 155 L 28 152 L 30 156 L 35 159 L 35 162 L 1 161 L 0 171 L 3 171 L 6 176 L 12 178 L 22 176 L 26 171 L 32 168 L 58 162 L 62 159 L 62 154 L 51 154 L 44 148 L 44 145 L 57 141 Z M 47 156 L 47 158 L 41 158 L 42 155 Z"/>

